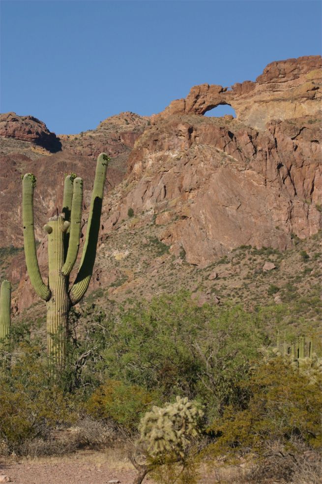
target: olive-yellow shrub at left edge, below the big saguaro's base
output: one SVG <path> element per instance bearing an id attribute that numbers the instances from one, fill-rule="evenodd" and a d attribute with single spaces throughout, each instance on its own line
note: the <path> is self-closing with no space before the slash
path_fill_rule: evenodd
<path id="1" fill-rule="evenodd" d="M 26 452 L 28 442 L 46 438 L 59 422 L 74 416 L 40 349 L 23 344 L 20 351 L 11 368 L 0 374 L 0 441 L 15 453 Z"/>

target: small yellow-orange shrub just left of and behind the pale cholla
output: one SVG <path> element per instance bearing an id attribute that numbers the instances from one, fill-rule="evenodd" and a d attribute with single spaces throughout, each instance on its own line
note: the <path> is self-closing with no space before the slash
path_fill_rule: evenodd
<path id="1" fill-rule="evenodd" d="M 137 385 L 107 380 L 96 388 L 87 402 L 87 411 L 95 419 L 113 419 L 128 430 L 134 430 L 156 395 Z"/>

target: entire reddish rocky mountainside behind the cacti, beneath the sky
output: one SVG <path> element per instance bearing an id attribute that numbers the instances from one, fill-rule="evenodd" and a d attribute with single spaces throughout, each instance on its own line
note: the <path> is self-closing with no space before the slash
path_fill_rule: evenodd
<path id="1" fill-rule="evenodd" d="M 201 302 L 238 295 L 251 303 L 250 291 L 267 297 L 278 279 L 269 297 L 281 290 L 283 300 L 288 278 L 297 275 L 291 268 L 306 270 L 303 291 L 316 290 L 321 67 L 319 56 L 274 62 L 255 82 L 195 86 L 151 119 L 122 113 L 79 135 L 56 136 L 30 116 L 2 115 L 2 247 L 22 245 L 20 174 L 32 171 L 45 276 L 41 227 L 59 206 L 63 175 L 75 171 L 84 177 L 86 219 L 94 159 L 106 151 L 113 161 L 89 298 L 104 302 L 185 287 Z M 236 118 L 204 117 L 219 104 L 233 106 Z M 310 271 L 299 248 L 308 251 Z M 265 262 L 275 268 L 263 270 Z M 6 265 L 7 276 L 19 283 L 15 307 L 21 312 L 37 301 L 23 253 L 6 257 Z"/>

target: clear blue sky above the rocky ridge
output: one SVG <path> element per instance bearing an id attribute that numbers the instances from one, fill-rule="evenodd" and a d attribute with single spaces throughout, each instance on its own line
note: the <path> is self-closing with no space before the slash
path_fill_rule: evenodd
<path id="1" fill-rule="evenodd" d="M 77 133 L 321 53 L 320 1 L 1 1 L 1 112 Z"/>

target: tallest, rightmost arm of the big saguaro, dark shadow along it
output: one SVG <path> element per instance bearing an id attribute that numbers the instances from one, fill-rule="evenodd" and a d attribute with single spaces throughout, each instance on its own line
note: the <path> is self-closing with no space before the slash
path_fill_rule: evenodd
<path id="1" fill-rule="evenodd" d="M 94 187 L 90 202 L 88 226 L 82 259 L 74 285 L 69 292 L 69 297 L 73 305 L 80 301 L 84 296 L 93 272 L 102 212 L 104 184 L 109 160 L 110 158 L 106 153 L 101 153 L 97 158 Z"/>

